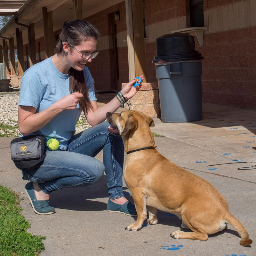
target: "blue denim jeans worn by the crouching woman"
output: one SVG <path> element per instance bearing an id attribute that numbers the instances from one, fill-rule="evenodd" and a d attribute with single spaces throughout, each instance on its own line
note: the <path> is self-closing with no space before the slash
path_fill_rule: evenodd
<path id="1" fill-rule="evenodd" d="M 108 122 L 74 135 L 65 150 L 46 151 L 44 163 L 36 170 L 24 172 L 23 179 L 38 182 L 46 194 L 60 188 L 92 185 L 107 176 L 109 198 L 124 196 L 123 140 L 108 132 Z M 103 149 L 103 164 L 95 159 Z"/>

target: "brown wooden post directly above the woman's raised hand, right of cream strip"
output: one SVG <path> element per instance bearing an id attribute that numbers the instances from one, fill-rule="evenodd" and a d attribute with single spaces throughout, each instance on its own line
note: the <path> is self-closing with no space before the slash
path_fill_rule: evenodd
<path id="1" fill-rule="evenodd" d="M 135 52 L 135 74 L 136 76 L 143 75 L 143 82 L 146 83 L 146 60 L 142 0 L 132 0 L 132 18 Z"/>

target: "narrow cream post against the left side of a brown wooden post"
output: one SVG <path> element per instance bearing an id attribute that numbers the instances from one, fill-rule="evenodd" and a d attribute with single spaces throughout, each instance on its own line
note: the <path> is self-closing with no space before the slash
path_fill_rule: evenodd
<path id="1" fill-rule="evenodd" d="M 135 58 L 133 43 L 133 22 L 132 22 L 132 0 L 125 0 L 126 28 L 127 28 L 127 46 L 128 46 L 128 65 L 129 80 L 133 80 L 135 75 Z"/>

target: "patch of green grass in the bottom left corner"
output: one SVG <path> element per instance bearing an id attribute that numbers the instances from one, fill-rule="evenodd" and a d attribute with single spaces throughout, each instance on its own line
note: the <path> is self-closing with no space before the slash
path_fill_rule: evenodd
<path id="1" fill-rule="evenodd" d="M 0 255 L 34 256 L 43 251 L 45 236 L 33 236 L 26 231 L 28 220 L 20 214 L 17 193 L 0 185 Z"/>

